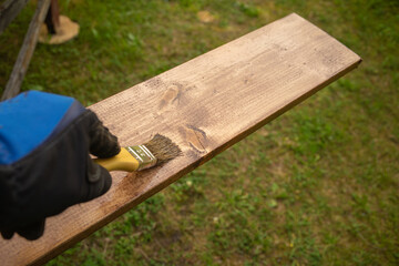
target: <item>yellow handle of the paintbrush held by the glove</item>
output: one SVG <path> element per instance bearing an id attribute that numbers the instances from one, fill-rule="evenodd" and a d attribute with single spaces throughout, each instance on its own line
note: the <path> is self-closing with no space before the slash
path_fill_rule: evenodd
<path id="1" fill-rule="evenodd" d="M 121 152 L 110 158 L 94 158 L 94 162 L 108 171 L 126 171 L 133 172 L 139 168 L 139 161 L 130 154 L 126 149 L 122 147 Z"/>

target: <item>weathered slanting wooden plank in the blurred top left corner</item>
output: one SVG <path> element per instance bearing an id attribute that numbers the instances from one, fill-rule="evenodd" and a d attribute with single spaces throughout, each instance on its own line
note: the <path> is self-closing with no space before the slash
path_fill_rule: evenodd
<path id="1" fill-rule="evenodd" d="M 39 0 L 37 10 L 33 14 L 32 21 L 29 24 L 28 32 L 23 39 L 20 52 L 18 53 L 17 62 L 12 69 L 10 80 L 7 82 L 1 100 L 7 100 L 16 96 L 21 88 L 22 80 L 27 73 L 30 60 L 33 55 L 35 44 L 38 42 L 40 27 L 48 13 L 51 0 Z"/>

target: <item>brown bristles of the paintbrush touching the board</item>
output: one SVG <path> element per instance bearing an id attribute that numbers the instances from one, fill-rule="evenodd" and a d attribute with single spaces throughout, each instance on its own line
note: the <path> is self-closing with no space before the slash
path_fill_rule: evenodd
<path id="1" fill-rule="evenodd" d="M 174 144 L 168 137 L 156 134 L 151 141 L 144 143 L 152 154 L 156 157 L 157 162 L 165 163 L 172 158 L 182 155 L 180 147 Z"/>

